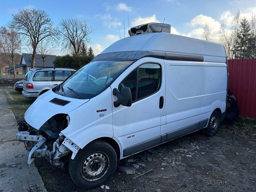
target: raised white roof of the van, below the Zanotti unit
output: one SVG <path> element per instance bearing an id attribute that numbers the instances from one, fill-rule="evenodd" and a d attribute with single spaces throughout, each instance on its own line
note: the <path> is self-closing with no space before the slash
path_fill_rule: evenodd
<path id="1" fill-rule="evenodd" d="M 137 60 L 145 56 L 226 63 L 223 45 L 170 33 L 145 33 L 123 38 L 102 51 L 93 61 Z"/>

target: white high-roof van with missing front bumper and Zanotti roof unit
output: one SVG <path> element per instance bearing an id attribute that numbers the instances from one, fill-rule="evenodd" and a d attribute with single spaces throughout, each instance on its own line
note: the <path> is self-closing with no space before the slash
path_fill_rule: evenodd
<path id="1" fill-rule="evenodd" d="M 160 23 L 129 34 L 29 107 L 16 135 L 34 143 L 29 164 L 68 159 L 74 183 L 89 189 L 104 184 L 119 159 L 200 129 L 217 133 L 226 111 L 223 45 L 170 34 Z"/>

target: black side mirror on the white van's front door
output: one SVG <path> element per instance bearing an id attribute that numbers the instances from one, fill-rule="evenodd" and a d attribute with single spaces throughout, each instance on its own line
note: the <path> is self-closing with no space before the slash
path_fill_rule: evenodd
<path id="1" fill-rule="evenodd" d="M 121 92 L 117 88 L 114 88 L 113 95 L 117 96 L 117 101 L 114 101 L 115 107 L 118 107 L 121 104 L 126 107 L 132 106 L 132 93 L 130 88 L 124 87 L 121 89 Z"/>

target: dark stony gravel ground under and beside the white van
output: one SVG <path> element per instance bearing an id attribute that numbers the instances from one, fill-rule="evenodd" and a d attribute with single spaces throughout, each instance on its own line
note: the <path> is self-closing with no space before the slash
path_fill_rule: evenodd
<path id="1" fill-rule="evenodd" d="M 109 182 L 89 191 L 256 191 L 255 157 L 256 125 L 223 124 L 215 136 L 198 131 L 123 159 Z M 35 164 L 48 192 L 84 191 L 67 165 L 60 169 L 44 159 Z"/>

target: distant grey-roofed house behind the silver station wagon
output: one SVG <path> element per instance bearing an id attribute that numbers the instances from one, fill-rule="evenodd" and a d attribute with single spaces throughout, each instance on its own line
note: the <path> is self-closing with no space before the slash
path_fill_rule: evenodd
<path id="1" fill-rule="evenodd" d="M 20 64 L 15 65 L 15 69 L 17 68 L 22 74 L 26 74 L 31 67 L 31 58 L 32 54 L 30 53 L 22 53 Z M 48 55 L 46 58 L 46 67 L 54 67 L 53 61 L 55 60 L 56 56 Z M 35 56 L 35 68 L 43 67 L 43 59 L 40 54 L 36 54 Z M 20 70 L 21 69 L 21 70 Z M 6 70 L 9 73 L 13 73 L 13 67 L 8 67 Z"/>

